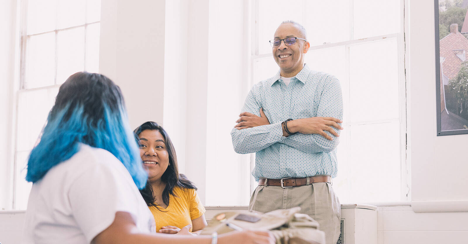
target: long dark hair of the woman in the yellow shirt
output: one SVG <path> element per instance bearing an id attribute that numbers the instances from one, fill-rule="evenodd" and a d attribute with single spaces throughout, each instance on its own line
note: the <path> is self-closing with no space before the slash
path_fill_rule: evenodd
<path id="1" fill-rule="evenodd" d="M 152 131 L 159 131 L 164 137 L 166 141 L 166 149 L 169 155 L 169 165 L 166 171 L 161 176 L 161 180 L 166 183 L 166 187 L 164 187 L 164 191 L 162 191 L 162 201 L 165 205 L 169 205 L 169 194 L 176 196 L 174 193 L 174 187 L 179 186 L 181 188 L 186 189 L 195 189 L 197 187 L 191 182 L 184 174 L 179 174 L 179 167 L 177 166 L 177 156 L 176 156 L 176 149 L 172 144 L 171 139 L 169 138 L 168 133 L 162 128 L 162 126 L 158 125 L 158 123 L 153 121 L 148 121 L 143 123 L 141 126 L 138 126 L 133 133 L 135 134 L 135 139 L 139 141 L 139 134 L 146 130 Z M 141 196 L 146 202 L 148 207 L 156 207 L 158 210 L 161 209 L 156 204 L 156 197 L 154 196 L 153 188 L 149 182 L 146 182 L 145 188 L 140 190 Z"/>

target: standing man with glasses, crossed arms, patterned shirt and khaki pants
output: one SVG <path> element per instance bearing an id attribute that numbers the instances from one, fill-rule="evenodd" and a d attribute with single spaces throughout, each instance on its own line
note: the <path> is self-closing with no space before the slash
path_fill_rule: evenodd
<path id="1" fill-rule="evenodd" d="M 259 185 L 249 209 L 300 206 L 319 222 L 327 244 L 336 244 L 341 208 L 331 178 L 343 129 L 340 82 L 304 64 L 310 44 L 299 23 L 282 22 L 270 44 L 279 71 L 252 87 L 231 131 L 237 153 L 256 153 Z"/>

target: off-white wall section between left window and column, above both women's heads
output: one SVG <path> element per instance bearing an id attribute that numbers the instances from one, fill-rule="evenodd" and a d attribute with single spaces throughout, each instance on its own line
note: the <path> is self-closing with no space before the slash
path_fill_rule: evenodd
<path id="1" fill-rule="evenodd" d="M 102 0 L 99 72 L 120 86 L 132 129 L 162 122 L 165 0 Z"/>

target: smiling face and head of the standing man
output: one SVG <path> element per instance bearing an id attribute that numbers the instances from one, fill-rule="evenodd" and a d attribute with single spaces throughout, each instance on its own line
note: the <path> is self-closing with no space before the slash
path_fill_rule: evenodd
<path id="1" fill-rule="evenodd" d="M 299 27 L 293 23 L 284 23 L 276 29 L 274 38 L 285 39 L 288 37 L 304 38 Z M 304 40 L 297 39 L 296 44 L 286 46 L 284 41 L 278 47 L 273 47 L 273 58 L 279 66 L 281 76 L 295 76 L 304 67 L 304 54 L 307 53 L 310 44 Z"/>

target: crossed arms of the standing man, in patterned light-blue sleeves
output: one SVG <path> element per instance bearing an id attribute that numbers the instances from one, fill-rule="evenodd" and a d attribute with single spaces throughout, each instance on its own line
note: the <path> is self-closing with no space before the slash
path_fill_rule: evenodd
<path id="1" fill-rule="evenodd" d="M 239 115 L 238 123 L 231 131 L 234 151 L 253 153 L 283 143 L 305 153 L 330 152 L 338 145 L 337 137 L 343 118 L 343 99 L 339 81 L 331 79 L 323 86 L 317 107 L 317 116 L 298 118 L 287 122 L 289 135 L 281 122 L 270 124 L 268 117 L 257 102 L 255 91 L 247 95 L 246 102 Z M 274 117 L 269 114 L 270 118 Z"/>

